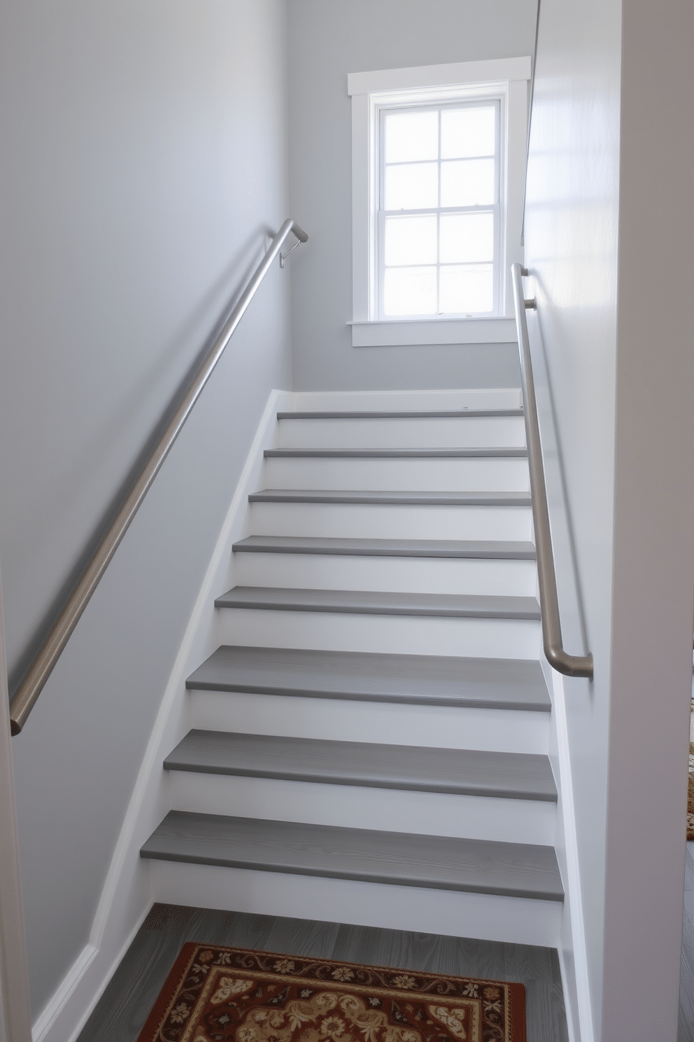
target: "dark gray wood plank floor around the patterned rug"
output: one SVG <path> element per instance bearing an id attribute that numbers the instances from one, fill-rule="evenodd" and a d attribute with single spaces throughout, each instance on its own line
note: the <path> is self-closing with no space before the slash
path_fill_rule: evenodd
<path id="1" fill-rule="evenodd" d="M 155 904 L 78 1042 L 134 1042 L 185 941 L 525 985 L 529 1042 L 568 1042 L 554 948 Z"/>

